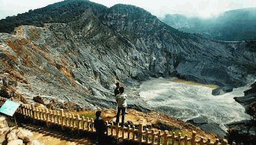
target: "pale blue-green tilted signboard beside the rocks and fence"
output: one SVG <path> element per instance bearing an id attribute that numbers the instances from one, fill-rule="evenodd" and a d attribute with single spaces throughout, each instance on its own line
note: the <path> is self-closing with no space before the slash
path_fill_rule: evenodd
<path id="1" fill-rule="evenodd" d="M 4 102 L 3 106 L 0 108 L 0 112 L 8 116 L 13 116 L 19 106 L 20 103 L 6 100 L 6 102 Z"/>

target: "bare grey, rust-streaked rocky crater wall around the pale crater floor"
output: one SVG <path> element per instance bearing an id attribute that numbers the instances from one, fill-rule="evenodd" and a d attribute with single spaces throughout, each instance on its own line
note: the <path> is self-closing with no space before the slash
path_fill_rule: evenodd
<path id="1" fill-rule="evenodd" d="M 129 107 L 147 112 L 138 88 L 148 77 L 178 77 L 228 90 L 255 79 L 256 54 L 249 42 L 181 33 L 136 6 L 95 11 L 88 7 L 73 22 L 0 33 L 0 95 L 29 103 L 40 98 L 59 108 L 115 109 L 113 84 L 121 82 Z"/>

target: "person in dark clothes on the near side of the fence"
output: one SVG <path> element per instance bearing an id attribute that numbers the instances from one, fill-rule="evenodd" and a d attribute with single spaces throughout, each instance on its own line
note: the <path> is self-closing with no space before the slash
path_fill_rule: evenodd
<path id="1" fill-rule="evenodd" d="M 104 141 L 105 132 L 107 131 L 107 126 L 100 118 L 101 111 L 96 112 L 96 119 L 94 120 L 94 127 L 96 129 L 97 134 L 97 141 L 102 142 Z"/>

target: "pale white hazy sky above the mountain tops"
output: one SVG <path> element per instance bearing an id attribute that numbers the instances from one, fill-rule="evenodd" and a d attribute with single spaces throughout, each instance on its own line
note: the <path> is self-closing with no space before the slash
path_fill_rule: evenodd
<path id="1" fill-rule="evenodd" d="M 0 0 L 0 19 L 25 13 L 63 0 Z M 115 4 L 132 4 L 150 11 L 157 17 L 166 13 L 179 13 L 188 16 L 209 17 L 221 11 L 256 7 L 256 0 L 92 0 L 111 7 Z"/>

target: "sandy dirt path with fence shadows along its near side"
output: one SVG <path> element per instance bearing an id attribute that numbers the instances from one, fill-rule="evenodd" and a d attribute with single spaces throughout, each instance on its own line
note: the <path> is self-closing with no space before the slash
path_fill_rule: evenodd
<path id="1" fill-rule="evenodd" d="M 45 145 L 76 145 L 76 144 L 95 144 L 95 141 L 79 137 L 76 134 L 69 134 L 68 132 L 56 132 L 47 127 L 35 125 L 20 126 L 33 133 L 33 139 L 44 143 Z"/>

